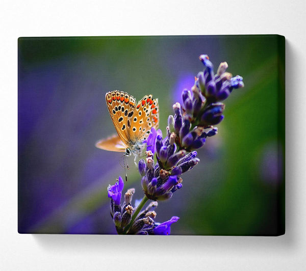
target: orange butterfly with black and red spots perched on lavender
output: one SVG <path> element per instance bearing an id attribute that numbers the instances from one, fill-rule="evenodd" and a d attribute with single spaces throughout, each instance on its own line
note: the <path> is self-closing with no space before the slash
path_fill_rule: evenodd
<path id="1" fill-rule="evenodd" d="M 158 128 L 158 99 L 145 95 L 137 104 L 136 99 L 123 91 L 110 91 L 105 95 L 106 104 L 117 134 L 101 139 L 96 147 L 107 151 L 135 155 L 148 138 L 151 127 Z"/>

